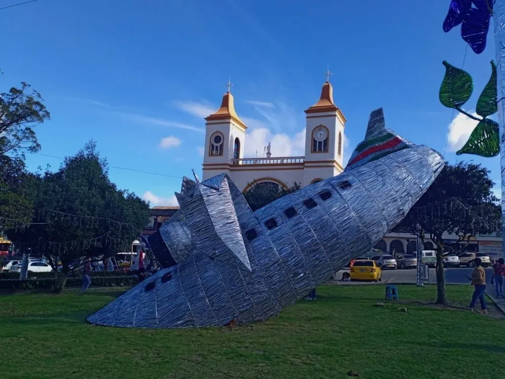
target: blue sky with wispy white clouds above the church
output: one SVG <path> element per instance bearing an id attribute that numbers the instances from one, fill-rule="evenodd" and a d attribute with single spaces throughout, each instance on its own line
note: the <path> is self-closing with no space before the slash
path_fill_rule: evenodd
<path id="1" fill-rule="evenodd" d="M 153 205 L 173 204 L 178 177 L 192 168 L 201 176 L 203 117 L 219 107 L 228 77 L 249 127 L 249 156 L 256 149 L 262 155 L 269 140 L 274 156 L 303 155 L 303 111 L 318 100 L 328 64 L 335 103 L 348 120 L 344 157 L 377 107 L 388 127 L 443 153 L 452 111 L 438 101 L 442 61 L 461 67 L 465 54 L 459 27 L 442 31 L 448 6 L 39 0 L 0 11 L 2 88 L 24 80 L 42 93 L 52 119 L 36 128 L 41 154 L 73 155 L 93 138 L 112 166 L 175 176 L 110 169 L 120 188 L 146 194 Z M 474 78 L 468 111 L 493 55 L 491 26 L 486 51 L 466 55 L 464 69 Z M 445 158 L 483 163 L 499 183 L 499 158 L 456 156 L 473 124 L 465 117 L 455 124 Z M 61 160 L 41 154 L 27 157 L 30 169 L 59 167 Z"/>

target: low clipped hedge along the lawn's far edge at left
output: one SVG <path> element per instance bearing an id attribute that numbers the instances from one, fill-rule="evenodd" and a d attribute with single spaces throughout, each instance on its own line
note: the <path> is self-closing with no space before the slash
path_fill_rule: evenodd
<path id="1" fill-rule="evenodd" d="M 46 277 L 46 278 L 38 277 L 26 280 L 1 279 L 0 290 L 34 290 L 44 288 L 52 289 L 55 285 L 55 282 L 56 282 L 55 277 Z M 132 275 L 129 276 L 91 275 L 91 286 L 95 287 L 125 287 L 125 286 L 134 286 L 137 283 L 138 278 Z M 65 288 L 81 287 L 81 286 L 82 286 L 82 277 L 69 277 L 67 279 Z"/>

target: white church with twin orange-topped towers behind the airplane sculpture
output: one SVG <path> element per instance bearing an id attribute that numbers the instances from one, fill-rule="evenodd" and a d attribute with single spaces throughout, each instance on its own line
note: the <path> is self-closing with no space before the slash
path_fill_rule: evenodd
<path id="1" fill-rule="evenodd" d="M 228 83 L 221 107 L 205 118 L 204 180 L 226 172 L 246 193 L 255 183 L 280 185 L 287 189 L 297 182 L 303 187 L 343 171 L 346 119 L 333 102 L 329 76 L 323 84 L 319 101 L 305 111 L 303 157 L 272 157 L 269 146 L 266 158 L 244 158 L 247 125 L 235 111 L 230 85 Z"/>

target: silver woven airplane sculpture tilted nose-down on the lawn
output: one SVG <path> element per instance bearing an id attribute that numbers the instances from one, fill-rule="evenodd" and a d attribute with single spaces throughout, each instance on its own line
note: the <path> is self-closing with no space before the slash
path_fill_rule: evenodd
<path id="1" fill-rule="evenodd" d="M 343 173 L 256 212 L 225 173 L 184 178 L 180 210 L 148 238 L 164 268 L 88 321 L 182 328 L 266 320 L 367 254 L 443 166 L 434 150 L 386 129 L 380 108 Z"/>

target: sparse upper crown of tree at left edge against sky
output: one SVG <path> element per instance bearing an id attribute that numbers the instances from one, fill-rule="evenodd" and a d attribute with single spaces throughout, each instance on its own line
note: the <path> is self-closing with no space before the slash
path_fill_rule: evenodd
<path id="1" fill-rule="evenodd" d="M 0 156 L 22 157 L 25 151 L 39 151 L 33 128 L 49 117 L 40 93 L 25 82 L 21 88 L 0 93 Z"/>

